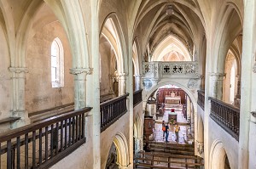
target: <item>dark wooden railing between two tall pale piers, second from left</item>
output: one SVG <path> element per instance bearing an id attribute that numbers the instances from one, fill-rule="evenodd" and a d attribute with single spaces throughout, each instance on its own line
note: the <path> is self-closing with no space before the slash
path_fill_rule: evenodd
<path id="1" fill-rule="evenodd" d="M 101 132 L 117 121 L 127 112 L 126 97 L 129 93 L 100 104 L 101 106 Z"/>

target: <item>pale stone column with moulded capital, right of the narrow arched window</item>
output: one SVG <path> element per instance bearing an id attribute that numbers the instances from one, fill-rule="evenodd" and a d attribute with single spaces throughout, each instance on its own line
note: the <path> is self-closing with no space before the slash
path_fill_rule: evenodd
<path id="1" fill-rule="evenodd" d="M 87 68 L 73 68 L 70 73 L 74 75 L 74 109 L 86 107 L 86 76 L 91 74 Z"/>

